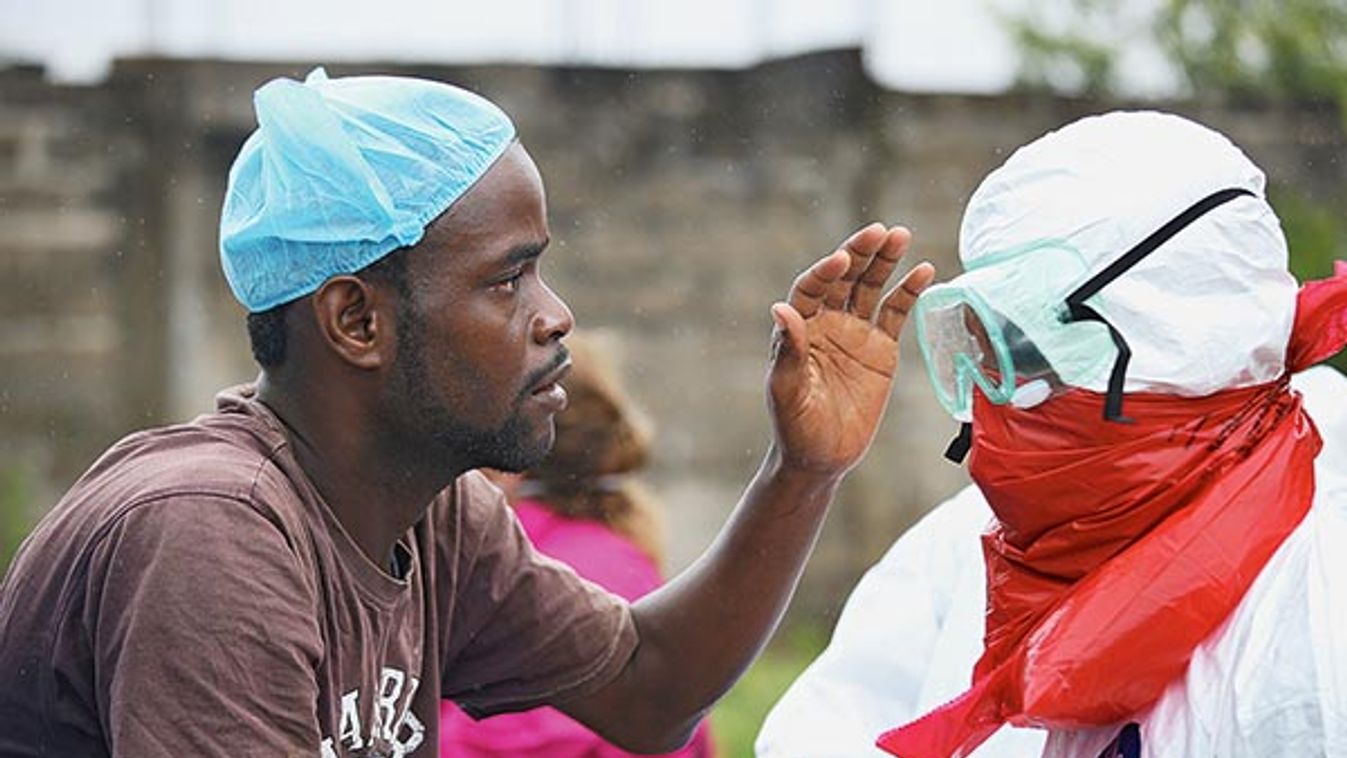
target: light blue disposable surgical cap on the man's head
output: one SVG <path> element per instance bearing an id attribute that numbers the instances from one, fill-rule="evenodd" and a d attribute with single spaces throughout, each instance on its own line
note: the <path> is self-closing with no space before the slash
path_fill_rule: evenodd
<path id="1" fill-rule="evenodd" d="M 404 77 L 273 79 L 229 170 L 220 260 L 252 312 L 416 244 L 515 140 L 500 108 Z"/>

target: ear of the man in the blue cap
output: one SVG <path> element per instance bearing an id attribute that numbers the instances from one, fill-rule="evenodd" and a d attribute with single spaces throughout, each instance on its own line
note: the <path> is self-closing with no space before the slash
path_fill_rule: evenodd
<path id="1" fill-rule="evenodd" d="M 396 303 L 379 287 L 356 276 L 334 276 L 310 299 L 323 343 L 358 369 L 379 369 L 393 359 Z"/>

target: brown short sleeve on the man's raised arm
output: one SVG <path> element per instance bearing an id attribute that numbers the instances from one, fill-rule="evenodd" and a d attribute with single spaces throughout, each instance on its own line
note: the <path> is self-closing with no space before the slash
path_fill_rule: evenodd
<path id="1" fill-rule="evenodd" d="M 455 565 L 443 641 L 442 695 L 474 718 L 591 692 L 636 649 L 621 598 L 536 552 L 496 487 L 475 474 L 455 490 L 457 529 L 438 540 Z M 457 553 L 457 555 L 455 555 Z M 446 602 L 447 600 L 447 602 Z"/>

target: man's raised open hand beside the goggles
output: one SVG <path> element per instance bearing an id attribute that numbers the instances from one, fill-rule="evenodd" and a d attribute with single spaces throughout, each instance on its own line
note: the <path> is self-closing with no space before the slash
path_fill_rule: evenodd
<path id="1" fill-rule="evenodd" d="M 901 226 L 872 223 L 772 306 L 768 405 L 784 464 L 841 475 L 870 447 L 898 368 L 898 333 L 935 277 L 917 264 L 881 299 L 911 240 Z"/>

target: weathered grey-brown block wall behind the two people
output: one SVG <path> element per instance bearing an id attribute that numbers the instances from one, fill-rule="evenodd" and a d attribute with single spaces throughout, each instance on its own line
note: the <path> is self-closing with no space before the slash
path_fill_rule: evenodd
<path id="1" fill-rule="evenodd" d="M 0 73 L 0 455 L 34 510 L 121 434 L 210 407 L 255 374 L 216 222 L 251 92 L 307 66 L 135 61 L 97 88 Z M 795 273 L 858 225 L 905 222 L 955 271 L 962 205 L 1016 145 L 1110 105 L 877 89 L 854 54 L 745 71 L 395 67 L 512 113 L 548 186 L 546 269 L 620 347 L 660 429 L 649 481 L 682 565 L 768 438 L 769 318 Z M 352 73 L 333 69 L 333 74 Z M 1332 113 L 1193 109 L 1277 180 L 1340 201 Z M 1340 206 L 1340 203 L 1339 203 Z M 913 518 L 963 483 L 955 431 L 913 345 L 866 463 L 839 497 L 799 603 L 830 614 Z"/>

